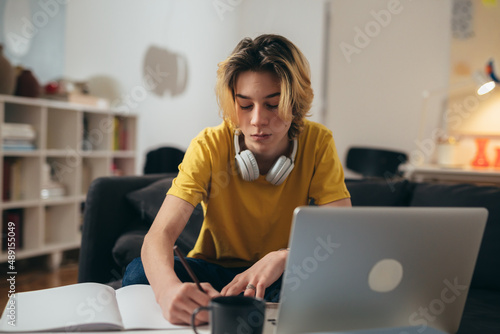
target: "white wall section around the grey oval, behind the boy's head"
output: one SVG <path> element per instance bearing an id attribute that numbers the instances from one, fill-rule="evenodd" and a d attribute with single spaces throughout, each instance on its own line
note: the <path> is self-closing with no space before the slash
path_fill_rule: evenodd
<path id="1" fill-rule="evenodd" d="M 155 45 L 183 55 L 189 78 L 181 95 L 132 96 L 139 115 L 139 161 L 162 145 L 187 148 L 203 128 L 220 123 L 214 96 L 217 63 L 237 42 L 260 33 L 281 33 L 295 42 L 311 62 L 313 88 L 322 90 L 323 0 L 75 0 L 68 2 L 66 75 L 104 77 L 123 106 L 126 95 L 147 88 L 143 58 Z M 299 28 L 300 27 L 300 28 Z M 98 95 L 98 92 L 94 92 Z M 125 94 L 125 96 L 123 95 Z M 112 94 L 111 94 L 112 95 Z M 116 101 L 116 100 L 115 100 Z M 319 100 L 318 100 L 319 101 Z M 319 117 L 321 105 L 315 104 Z"/>

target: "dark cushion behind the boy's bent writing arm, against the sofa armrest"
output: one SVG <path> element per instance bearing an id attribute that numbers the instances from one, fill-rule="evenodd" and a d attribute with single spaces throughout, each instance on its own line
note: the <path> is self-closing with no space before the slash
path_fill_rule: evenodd
<path id="1" fill-rule="evenodd" d="M 147 187 L 132 191 L 126 195 L 127 200 L 140 213 L 146 227 L 149 228 L 160 210 L 160 207 L 165 199 L 168 189 L 172 185 L 172 178 L 165 178 Z M 176 245 L 187 254 L 193 249 L 198 234 L 200 233 L 203 223 L 203 209 L 198 204 L 191 214 L 184 230 L 177 238 Z"/>

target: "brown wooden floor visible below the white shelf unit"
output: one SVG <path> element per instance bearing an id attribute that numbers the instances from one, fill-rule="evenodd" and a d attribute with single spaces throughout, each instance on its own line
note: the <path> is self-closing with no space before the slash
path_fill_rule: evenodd
<path id="1" fill-rule="evenodd" d="M 7 263 L 0 264 L 0 311 L 3 311 L 9 299 L 10 284 L 7 281 L 10 271 Z M 16 261 L 17 275 L 15 276 L 16 292 L 53 288 L 78 281 L 78 251 L 65 252 L 61 267 L 50 271 L 46 269 L 46 258 L 37 257 Z"/>

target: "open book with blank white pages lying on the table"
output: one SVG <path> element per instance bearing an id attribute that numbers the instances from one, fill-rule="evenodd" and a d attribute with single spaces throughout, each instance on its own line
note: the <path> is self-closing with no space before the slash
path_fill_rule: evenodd
<path id="1" fill-rule="evenodd" d="M 168 322 L 149 285 L 118 290 L 101 283 L 78 283 L 10 296 L 0 332 L 180 329 Z"/>

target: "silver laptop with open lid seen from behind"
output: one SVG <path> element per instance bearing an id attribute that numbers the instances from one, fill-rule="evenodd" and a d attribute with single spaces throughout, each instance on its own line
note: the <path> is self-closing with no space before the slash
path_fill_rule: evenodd
<path id="1" fill-rule="evenodd" d="M 487 216 L 297 208 L 276 333 L 455 333 Z"/>

